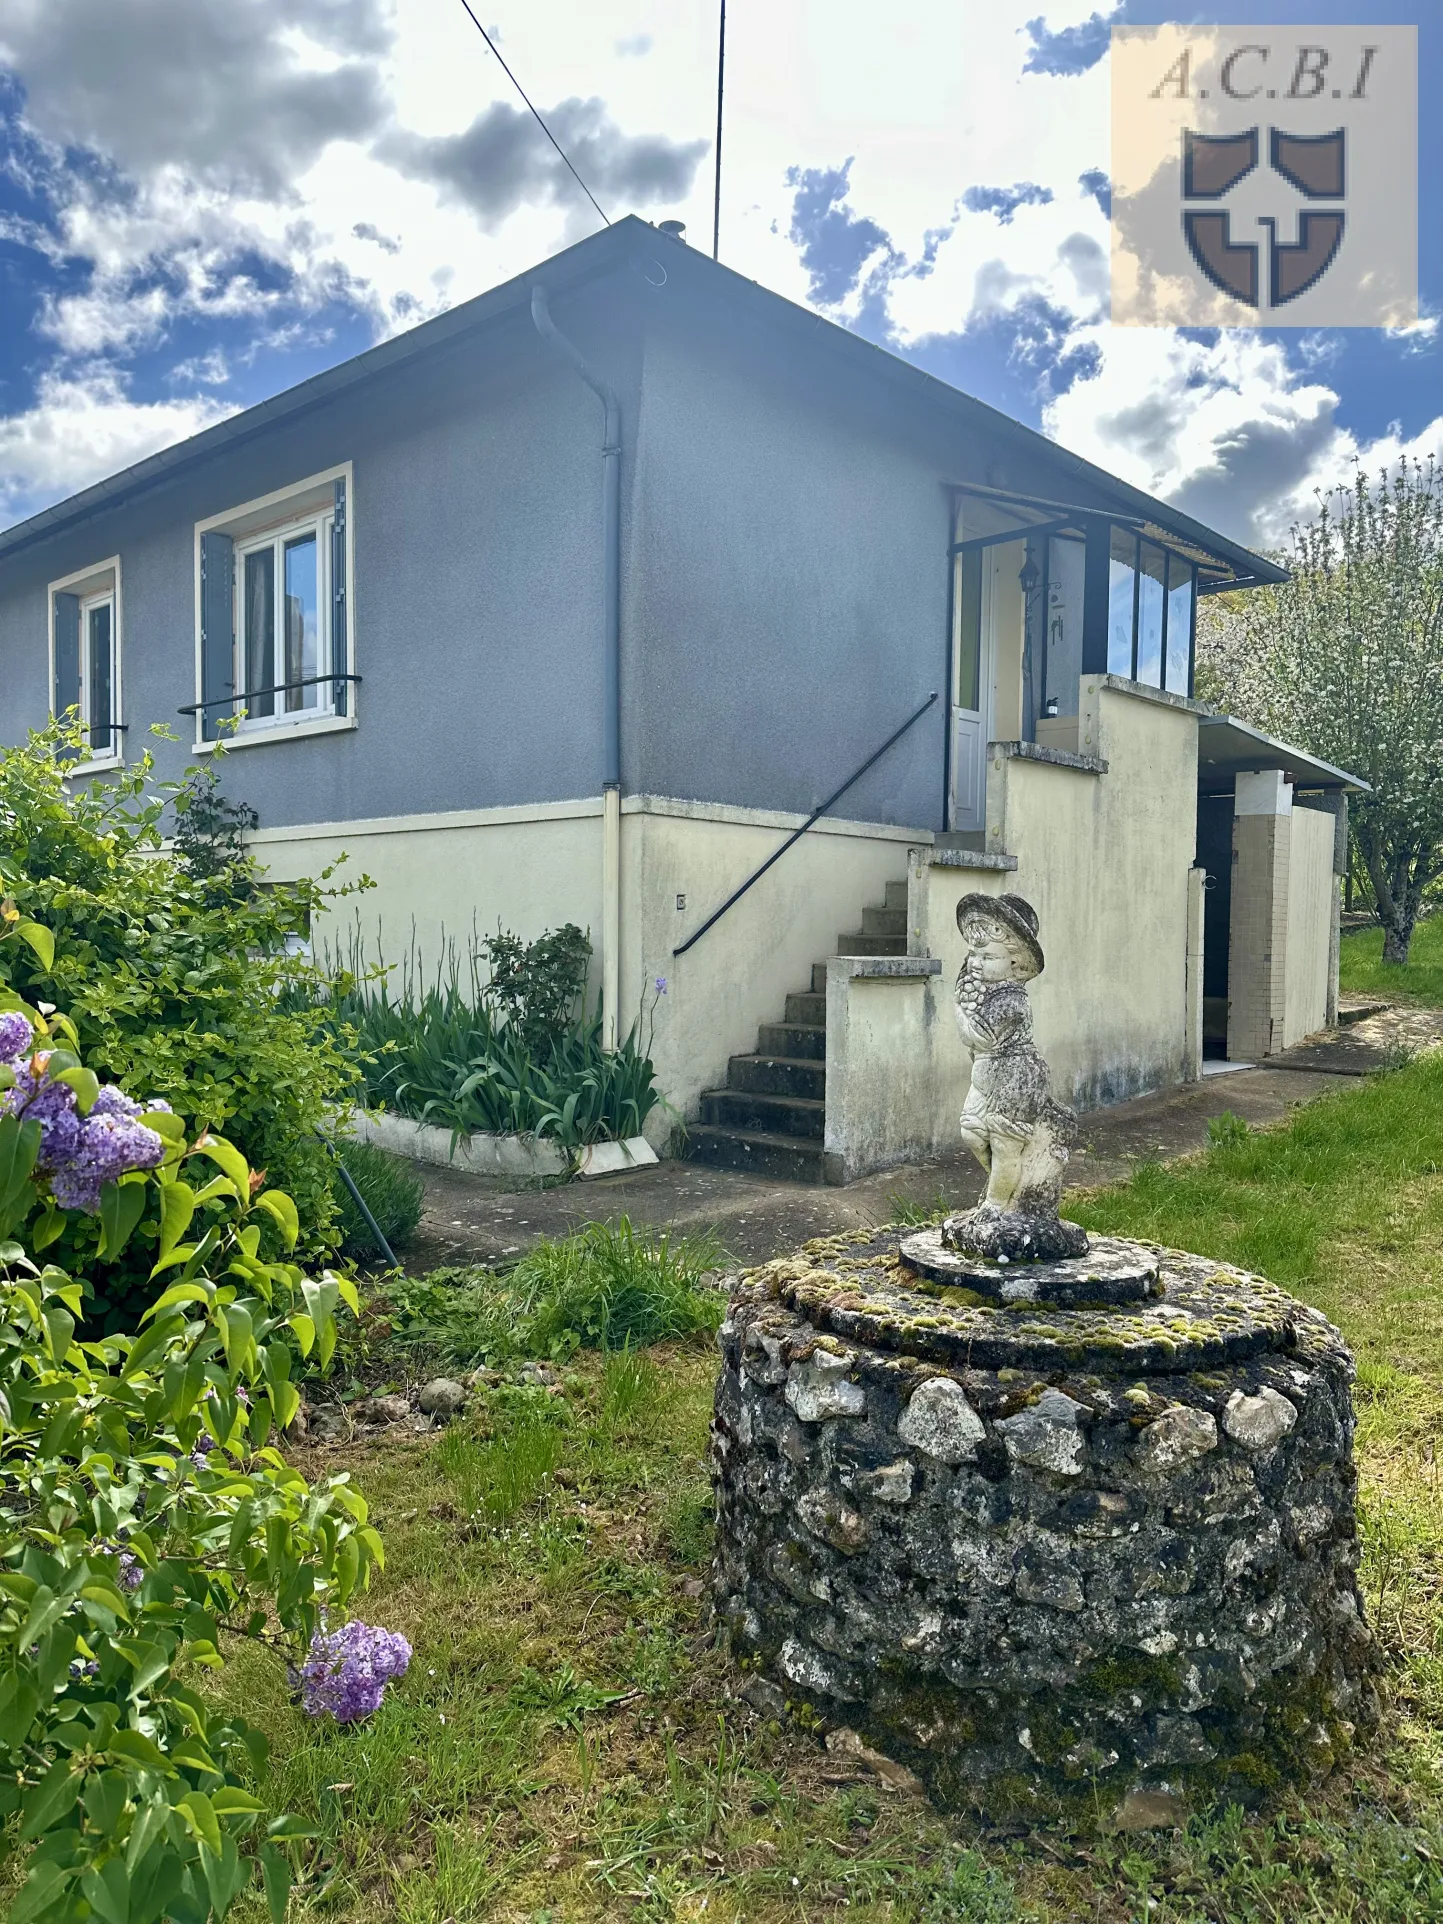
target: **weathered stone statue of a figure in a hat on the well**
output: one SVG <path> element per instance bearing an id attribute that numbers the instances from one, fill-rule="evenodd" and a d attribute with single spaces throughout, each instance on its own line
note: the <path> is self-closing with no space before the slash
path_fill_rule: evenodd
<path id="1" fill-rule="evenodd" d="M 1043 972 L 1037 910 L 1020 895 L 964 895 L 956 925 L 966 943 L 956 1025 L 972 1051 L 962 1141 L 987 1170 L 987 1193 L 977 1208 L 949 1218 L 943 1241 L 995 1262 L 1081 1256 L 1085 1229 L 1058 1216 L 1077 1118 L 1052 1101 L 1031 1039 L 1027 983 Z"/>

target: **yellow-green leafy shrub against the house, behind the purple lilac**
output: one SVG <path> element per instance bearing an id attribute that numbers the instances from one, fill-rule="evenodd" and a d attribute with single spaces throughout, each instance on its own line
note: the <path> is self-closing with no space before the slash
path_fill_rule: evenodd
<path id="1" fill-rule="evenodd" d="M 65 1008 L 87 1062 L 140 1099 L 164 1097 L 192 1131 L 223 1129 L 296 1199 L 306 1247 L 329 1247 L 333 1176 L 317 1127 L 358 1076 L 319 1022 L 314 970 L 292 954 L 327 899 L 312 881 L 256 885 L 229 864 L 192 875 L 165 852 L 164 812 L 183 785 L 133 770 L 67 789 L 73 729 L 52 725 L 0 756 L 0 883 L 54 935 L 54 962 L 0 950 L 0 987 Z M 100 1297 L 133 1285 L 104 1266 Z"/>

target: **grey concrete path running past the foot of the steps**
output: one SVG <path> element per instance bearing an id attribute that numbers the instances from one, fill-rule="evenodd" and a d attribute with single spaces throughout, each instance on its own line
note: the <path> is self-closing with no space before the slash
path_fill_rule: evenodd
<path id="1" fill-rule="evenodd" d="M 1389 1008 L 1314 1037 L 1266 1068 L 1208 1074 L 1197 1083 L 1091 1110 L 1081 1116 L 1068 1187 L 1118 1181 L 1139 1162 L 1191 1154 L 1206 1147 L 1208 1120 L 1224 1110 L 1254 1126 L 1279 1122 L 1299 1102 L 1347 1089 L 1405 1051 L 1439 1045 L 1443 1010 Z M 504 1262 L 544 1235 L 568 1235 L 587 1222 L 618 1216 L 629 1216 L 639 1228 L 712 1231 L 731 1260 L 764 1262 L 814 1235 L 887 1222 L 897 1197 L 927 1204 L 941 1199 L 950 1208 L 968 1208 L 981 1191 L 981 1172 L 960 1149 L 845 1189 L 762 1181 L 695 1162 L 658 1162 L 556 1189 L 516 1189 L 425 1166 L 419 1174 L 427 1195 L 419 1235 L 406 1251 L 412 1272 L 452 1262 Z"/>

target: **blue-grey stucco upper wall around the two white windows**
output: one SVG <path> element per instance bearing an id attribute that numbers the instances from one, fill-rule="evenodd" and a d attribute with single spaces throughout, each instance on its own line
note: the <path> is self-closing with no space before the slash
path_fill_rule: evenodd
<path id="1" fill-rule="evenodd" d="M 595 317 L 593 335 L 625 383 Z M 519 319 L 217 450 L 0 564 L 0 741 L 48 712 L 46 583 L 119 554 L 127 752 L 167 722 L 183 743 L 156 760 L 179 773 L 196 519 L 350 460 L 360 727 L 229 754 L 227 795 L 266 827 L 595 795 L 598 450 L 596 400 Z"/>

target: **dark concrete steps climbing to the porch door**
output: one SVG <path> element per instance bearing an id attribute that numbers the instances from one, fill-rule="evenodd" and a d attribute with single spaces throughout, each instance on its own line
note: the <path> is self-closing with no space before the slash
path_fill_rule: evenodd
<path id="1" fill-rule="evenodd" d="M 906 954 L 906 883 L 889 881 L 881 908 L 837 937 L 839 956 Z M 718 1170 L 747 1170 L 797 1183 L 827 1181 L 827 964 L 787 997 L 781 1022 L 756 1031 L 756 1052 L 727 1062 L 725 1089 L 702 1093 L 702 1120 L 687 1129 L 687 1154 Z"/>

